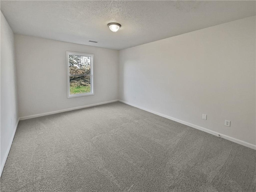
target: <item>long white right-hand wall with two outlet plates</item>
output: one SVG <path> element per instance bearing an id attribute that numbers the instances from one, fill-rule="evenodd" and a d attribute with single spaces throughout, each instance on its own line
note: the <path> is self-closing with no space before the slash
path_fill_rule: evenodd
<path id="1" fill-rule="evenodd" d="M 255 145 L 255 22 L 253 16 L 120 51 L 120 99 Z"/>

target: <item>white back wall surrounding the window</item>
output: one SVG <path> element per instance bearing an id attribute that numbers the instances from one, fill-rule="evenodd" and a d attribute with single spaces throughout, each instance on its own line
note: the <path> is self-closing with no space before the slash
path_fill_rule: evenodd
<path id="1" fill-rule="evenodd" d="M 118 99 L 117 50 L 16 35 L 19 116 Z M 94 54 L 95 95 L 67 98 L 66 51 Z"/>

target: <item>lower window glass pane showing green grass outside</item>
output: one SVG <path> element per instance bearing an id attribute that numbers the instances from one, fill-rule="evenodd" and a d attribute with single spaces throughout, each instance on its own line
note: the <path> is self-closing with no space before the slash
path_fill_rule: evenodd
<path id="1" fill-rule="evenodd" d="M 91 92 L 91 76 L 70 76 L 70 94 Z"/>

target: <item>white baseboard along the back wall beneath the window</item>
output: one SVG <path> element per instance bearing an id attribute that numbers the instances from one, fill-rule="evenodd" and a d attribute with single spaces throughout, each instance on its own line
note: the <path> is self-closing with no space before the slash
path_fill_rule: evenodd
<path id="1" fill-rule="evenodd" d="M 62 110 L 58 110 L 58 111 L 30 115 L 30 116 L 20 117 L 20 120 L 32 119 L 32 118 L 36 118 L 36 117 L 42 117 L 42 116 L 46 116 L 46 115 L 52 115 L 52 114 L 56 114 L 56 113 L 62 113 L 62 112 L 66 112 L 66 111 L 72 111 L 72 110 L 82 109 L 82 108 L 87 108 L 87 107 L 93 107 L 93 106 L 103 105 L 103 104 L 107 104 L 107 103 L 113 103 L 113 102 L 117 102 L 117 101 L 119 101 L 119 100 L 106 101 L 106 102 L 101 102 L 101 103 L 96 103 L 96 104 L 91 104 L 91 105 L 85 105 L 85 106 L 73 107 L 73 108 L 68 108 L 68 109 L 62 109 Z"/>

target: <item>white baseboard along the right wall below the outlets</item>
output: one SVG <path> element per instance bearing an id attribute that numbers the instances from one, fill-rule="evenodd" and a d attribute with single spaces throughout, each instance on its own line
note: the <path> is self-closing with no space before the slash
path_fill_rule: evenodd
<path id="1" fill-rule="evenodd" d="M 161 113 L 158 113 L 158 112 L 155 112 L 155 111 L 152 111 L 152 110 L 149 110 L 149 109 L 146 109 L 146 108 L 143 108 L 143 107 L 140 107 L 140 106 L 137 106 L 137 105 L 134 105 L 134 104 L 125 102 L 125 101 L 122 101 L 122 100 L 119 100 L 119 101 L 122 102 L 122 103 L 128 104 L 128 105 L 130 105 L 130 106 L 134 106 L 134 107 L 136 107 L 136 108 L 142 109 L 142 110 L 144 110 L 144 111 L 147 111 L 147 112 L 150 112 L 150 113 L 153 113 L 153 114 L 162 116 L 162 117 L 164 117 L 164 118 L 167 118 L 167 119 L 170 119 L 170 120 L 179 122 L 179 123 L 181 123 L 181 124 L 190 126 L 190 127 L 192 127 L 192 128 L 195 128 L 195 129 L 198 129 L 198 130 L 201 130 L 201 131 L 210 133 L 210 134 L 212 134 L 212 135 L 220 136 L 221 138 L 224 138 L 224 139 L 226 139 L 226 140 L 229 140 L 229 141 L 232 141 L 232 142 L 235 142 L 235 143 L 238 143 L 238 144 L 240 144 L 240 145 L 243 145 L 243 146 L 246 146 L 246 147 L 249 147 L 249 148 L 252 148 L 252 149 L 256 150 L 256 145 L 254 145 L 254 144 L 251 144 L 251 143 L 248 143 L 248 142 L 245 142 L 245 141 L 242 141 L 242 140 L 239 140 L 239 139 L 236 139 L 236 138 L 233 138 L 233 137 L 230 137 L 230 136 L 227 136 L 227 135 L 224 135 L 224 134 L 221 134 L 221 133 L 218 133 L 218 132 L 215 132 L 215 131 L 206 129 L 206 128 L 204 128 L 204 127 L 200 127 L 200 126 L 194 125 L 194 124 L 192 124 L 192 123 L 188 123 L 188 122 L 186 122 L 186 121 L 182 121 L 182 120 L 179 120 L 179 119 L 176 119 L 176 118 L 173 118 L 173 117 L 170 117 L 170 116 L 167 116 L 167 115 L 164 115 L 164 114 L 161 114 Z"/>

